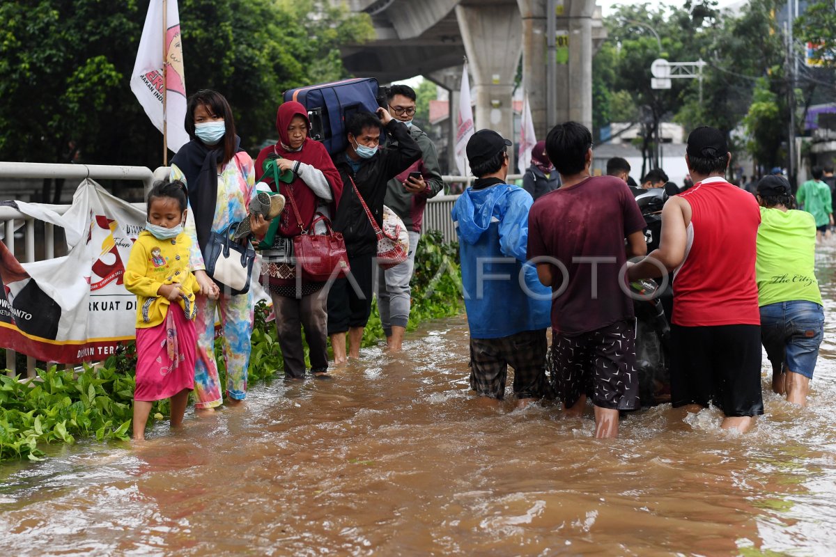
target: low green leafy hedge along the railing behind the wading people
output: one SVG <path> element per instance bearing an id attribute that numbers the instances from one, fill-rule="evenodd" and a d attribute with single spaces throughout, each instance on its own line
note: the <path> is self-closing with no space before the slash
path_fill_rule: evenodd
<path id="1" fill-rule="evenodd" d="M 415 254 L 412 308 L 409 329 L 428 319 L 456 315 L 461 311 L 461 269 L 455 244 L 445 243 L 440 232 L 421 238 Z M 266 381 L 283 367 L 276 327 L 267 322 L 268 307 L 256 308 L 248 382 Z M 363 346 L 383 338 L 377 306 L 366 326 Z M 221 384 L 226 382 L 222 344 L 215 342 Z M 305 357 L 308 347 L 305 347 Z M 24 358 L 25 362 L 25 358 Z M 25 366 L 24 362 L 23 365 Z M 18 363 L 18 366 L 20 365 Z M 76 436 L 105 439 L 130 437 L 133 416 L 134 342 L 120 347 L 115 356 L 82 371 L 39 369 L 32 380 L 0 375 L 0 461 L 9 458 L 40 460 L 39 443 L 74 443 Z M 22 369 L 23 367 L 18 367 Z M 168 414 L 168 401 L 154 403 L 150 423 Z"/>

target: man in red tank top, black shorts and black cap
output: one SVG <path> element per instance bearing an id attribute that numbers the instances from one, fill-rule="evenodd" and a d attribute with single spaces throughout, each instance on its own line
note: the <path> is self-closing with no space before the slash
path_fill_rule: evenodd
<path id="1" fill-rule="evenodd" d="M 755 281 L 761 215 L 751 194 L 726 181 L 731 158 L 719 129 L 691 133 L 686 164 L 695 184 L 665 203 L 659 249 L 628 273 L 635 280 L 673 271 L 673 407 L 714 403 L 726 415 L 722 428 L 745 432 L 763 413 Z"/>

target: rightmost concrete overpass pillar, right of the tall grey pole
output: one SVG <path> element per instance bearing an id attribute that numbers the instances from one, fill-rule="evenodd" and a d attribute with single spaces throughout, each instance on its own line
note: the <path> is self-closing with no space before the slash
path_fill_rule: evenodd
<path id="1" fill-rule="evenodd" d="M 593 13 L 595 0 L 558 2 L 558 39 L 564 37 L 568 59 L 558 41 L 558 122 L 575 120 L 592 129 Z M 565 59 L 565 63 L 563 63 Z"/>

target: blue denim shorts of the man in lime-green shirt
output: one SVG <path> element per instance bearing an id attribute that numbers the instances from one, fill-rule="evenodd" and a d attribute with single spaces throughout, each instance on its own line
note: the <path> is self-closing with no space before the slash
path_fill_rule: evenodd
<path id="1" fill-rule="evenodd" d="M 824 337 L 824 308 L 814 301 L 779 301 L 761 306 L 761 342 L 773 367 L 813 378 Z"/>

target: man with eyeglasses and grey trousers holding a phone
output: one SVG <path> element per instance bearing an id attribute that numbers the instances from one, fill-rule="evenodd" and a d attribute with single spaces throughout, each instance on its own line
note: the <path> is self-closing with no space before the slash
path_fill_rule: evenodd
<path id="1" fill-rule="evenodd" d="M 406 261 L 378 277 L 378 308 L 390 352 L 400 352 L 410 320 L 410 281 L 415 266 L 415 251 L 421 239 L 426 200 L 444 188 L 438 165 L 436 146 L 421 128 L 413 124 L 415 91 L 408 85 L 393 85 L 387 95 L 392 116 L 406 124 L 412 139 L 421 149 L 421 159 L 389 181 L 385 205 L 404 221 L 410 235 L 410 251 Z M 393 145 L 395 146 L 395 145 Z"/>

